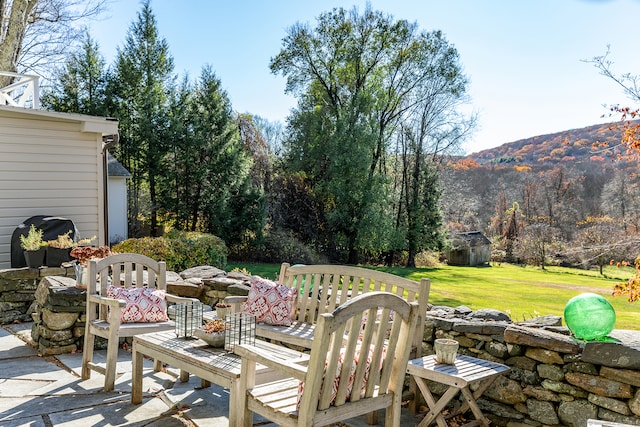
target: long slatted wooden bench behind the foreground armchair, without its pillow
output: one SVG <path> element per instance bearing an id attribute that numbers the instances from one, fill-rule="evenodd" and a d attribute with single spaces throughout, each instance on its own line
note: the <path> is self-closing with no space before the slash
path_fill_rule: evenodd
<path id="1" fill-rule="evenodd" d="M 410 358 L 422 356 L 424 317 L 429 301 L 429 279 L 420 282 L 394 274 L 346 265 L 290 265 L 283 263 L 278 282 L 295 289 L 297 299 L 291 326 L 256 325 L 256 336 L 310 349 L 318 316 L 331 313 L 349 299 L 370 291 L 386 291 L 419 306 L 418 322 L 411 338 Z M 246 297 L 227 297 L 232 312 L 240 310 Z M 417 386 L 411 381 L 411 392 Z M 415 402 L 415 399 L 414 399 Z M 415 409 L 415 408 L 412 408 Z"/>

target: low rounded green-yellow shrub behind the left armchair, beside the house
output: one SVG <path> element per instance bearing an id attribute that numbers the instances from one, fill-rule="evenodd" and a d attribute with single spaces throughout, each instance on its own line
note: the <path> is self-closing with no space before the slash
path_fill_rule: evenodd
<path id="1" fill-rule="evenodd" d="M 171 231 L 163 237 L 127 239 L 113 252 L 132 252 L 167 263 L 167 269 L 182 271 L 200 265 L 224 268 L 227 247 L 217 236 L 198 232 Z"/>

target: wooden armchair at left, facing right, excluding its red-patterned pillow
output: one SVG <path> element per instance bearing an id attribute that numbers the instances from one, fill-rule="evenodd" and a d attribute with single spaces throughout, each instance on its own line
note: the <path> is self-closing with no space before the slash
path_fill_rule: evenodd
<path id="1" fill-rule="evenodd" d="M 172 330 L 175 328 L 175 323 L 169 320 L 121 323 L 120 315 L 126 302 L 108 298 L 107 289 L 113 284 L 124 288 L 147 287 L 166 291 L 166 264 L 140 254 L 116 254 L 99 261 L 89 261 L 87 274 L 87 321 L 82 353 L 82 379 L 89 379 L 92 370 L 99 372 L 105 376 L 104 390 L 111 391 L 115 384 L 120 337 Z M 182 298 L 170 294 L 165 294 L 165 300 L 186 303 L 198 301 L 194 298 Z M 107 360 L 104 367 L 93 362 L 96 336 L 108 341 Z M 160 361 L 155 361 L 154 368 L 160 370 Z"/>

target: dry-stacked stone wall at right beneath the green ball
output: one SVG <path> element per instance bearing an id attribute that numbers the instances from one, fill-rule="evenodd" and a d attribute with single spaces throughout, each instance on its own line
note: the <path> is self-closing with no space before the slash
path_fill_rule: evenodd
<path id="1" fill-rule="evenodd" d="M 462 354 L 511 367 L 478 400 L 497 426 L 584 427 L 589 418 L 640 425 L 640 332 L 615 330 L 606 342 L 584 343 L 559 325 L 551 316 L 514 324 L 494 310 L 434 307 L 423 350 L 431 354 L 435 338 L 452 338 Z"/>

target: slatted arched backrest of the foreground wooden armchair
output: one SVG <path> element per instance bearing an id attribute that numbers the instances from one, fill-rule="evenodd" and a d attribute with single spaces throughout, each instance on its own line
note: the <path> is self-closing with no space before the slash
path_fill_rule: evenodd
<path id="1" fill-rule="evenodd" d="M 401 394 L 417 319 L 417 303 L 380 291 L 368 291 L 322 314 L 310 351 L 301 416 Z"/>

